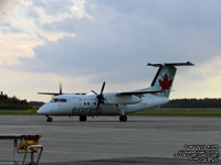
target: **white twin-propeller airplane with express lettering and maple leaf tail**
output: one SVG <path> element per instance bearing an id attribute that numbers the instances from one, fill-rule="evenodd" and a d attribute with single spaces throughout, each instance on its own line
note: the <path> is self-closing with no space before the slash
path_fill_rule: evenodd
<path id="1" fill-rule="evenodd" d="M 78 116 L 82 122 L 86 121 L 87 117 L 119 116 L 119 121 L 126 122 L 127 114 L 168 103 L 176 66 L 193 66 L 190 62 L 147 65 L 158 67 L 149 88 L 104 92 L 104 81 L 99 94 L 94 90 L 91 94 L 63 94 L 60 84 L 60 92 L 39 92 L 54 97 L 38 110 L 38 114 L 45 116 L 46 122 L 53 122 L 52 116 Z"/>

